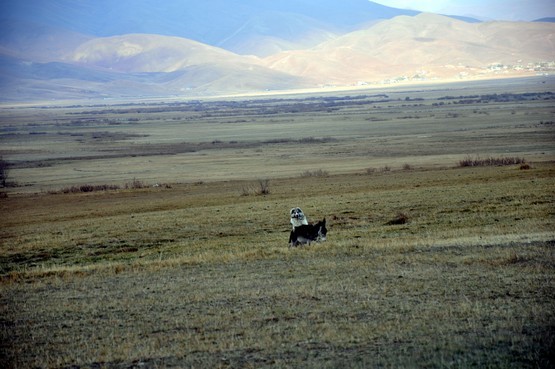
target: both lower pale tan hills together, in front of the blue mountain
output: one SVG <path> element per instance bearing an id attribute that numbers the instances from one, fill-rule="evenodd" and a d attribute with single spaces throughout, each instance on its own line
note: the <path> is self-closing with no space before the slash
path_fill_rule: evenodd
<path id="1" fill-rule="evenodd" d="M 287 23 L 286 13 L 282 14 L 281 22 Z M 265 27 L 263 18 L 238 31 L 245 35 L 230 34 L 223 40 L 249 39 L 253 44 L 246 50 L 266 48 L 260 53 L 270 55 L 263 57 L 176 36 L 93 37 L 54 25 L 4 20 L 0 23 L 9 25 L 11 32 L 0 34 L 1 99 L 34 100 L 41 94 L 64 99 L 227 95 L 532 75 L 544 72 L 536 68 L 538 63 L 555 69 L 554 23 L 469 23 L 418 13 L 371 21 L 345 33 L 323 33 L 326 27 L 321 24 L 306 24 L 303 37 L 310 37 L 312 29 L 314 38 L 303 41 L 299 36 L 287 44 L 270 31 L 252 32 Z M 291 27 L 294 34 L 299 25 L 293 22 Z"/>

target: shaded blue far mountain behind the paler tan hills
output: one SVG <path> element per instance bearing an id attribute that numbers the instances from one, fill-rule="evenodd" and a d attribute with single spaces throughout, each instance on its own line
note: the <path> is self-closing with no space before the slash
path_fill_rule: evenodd
<path id="1" fill-rule="evenodd" d="M 292 48 L 314 46 L 295 45 L 296 39 L 304 38 L 307 25 L 318 32 L 337 35 L 370 21 L 418 14 L 367 0 L 166 0 L 163 6 L 156 0 L 8 0 L 0 4 L 0 10 L 3 19 L 42 23 L 94 37 L 159 34 L 248 54 L 256 52 L 256 49 L 247 50 L 246 46 L 252 44 L 253 38 L 267 36 Z M 287 14 L 286 21 L 283 14 Z M 264 18 L 262 27 L 252 28 L 239 37 L 238 31 L 249 23 L 256 23 L 261 15 Z M 234 34 L 236 36 L 230 40 L 230 35 Z M 316 43 L 320 41 L 315 40 Z"/>

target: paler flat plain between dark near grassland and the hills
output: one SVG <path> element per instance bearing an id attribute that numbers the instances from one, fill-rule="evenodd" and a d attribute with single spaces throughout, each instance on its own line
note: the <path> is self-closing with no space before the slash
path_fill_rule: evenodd
<path id="1" fill-rule="evenodd" d="M 545 78 L 339 96 L 6 106 L 0 155 L 17 192 L 134 178 L 191 183 L 442 167 L 467 155 L 553 160 L 555 79 Z"/>

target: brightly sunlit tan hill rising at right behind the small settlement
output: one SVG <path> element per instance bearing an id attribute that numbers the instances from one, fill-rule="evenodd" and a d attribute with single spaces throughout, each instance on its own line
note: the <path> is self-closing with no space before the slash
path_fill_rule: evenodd
<path id="1" fill-rule="evenodd" d="M 286 51 L 265 64 L 320 84 L 353 84 L 400 76 L 455 78 L 492 64 L 555 60 L 555 25 L 467 23 L 435 14 L 400 16 L 307 50 Z"/>

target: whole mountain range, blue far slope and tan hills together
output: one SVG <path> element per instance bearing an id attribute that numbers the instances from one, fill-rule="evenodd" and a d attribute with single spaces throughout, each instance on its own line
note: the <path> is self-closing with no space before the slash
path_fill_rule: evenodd
<path id="1" fill-rule="evenodd" d="M 469 78 L 555 60 L 554 23 L 366 0 L 13 0 L 0 12 L 3 101 Z"/>

